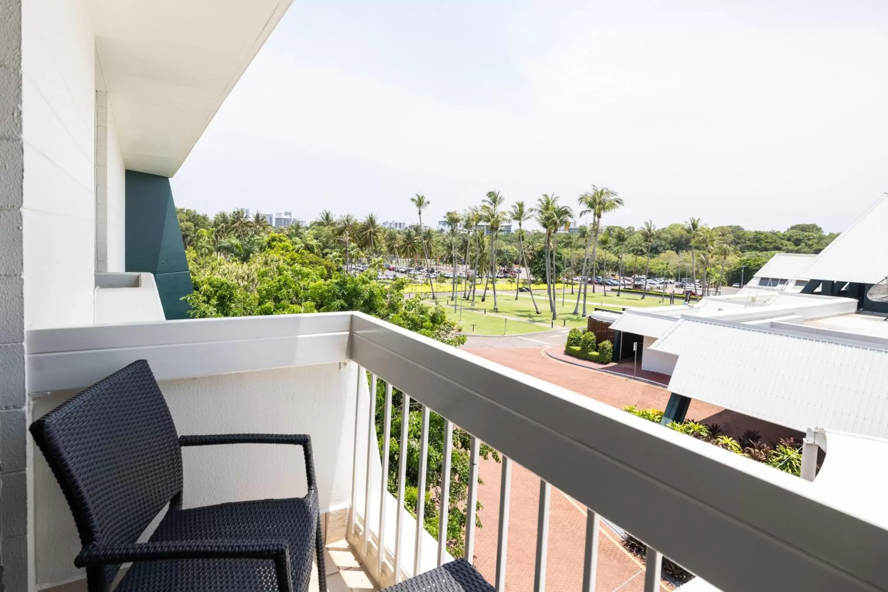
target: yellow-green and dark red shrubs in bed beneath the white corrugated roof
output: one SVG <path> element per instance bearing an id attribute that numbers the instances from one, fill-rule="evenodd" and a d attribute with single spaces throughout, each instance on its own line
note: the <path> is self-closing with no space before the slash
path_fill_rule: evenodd
<path id="1" fill-rule="evenodd" d="M 657 409 L 638 409 L 634 405 L 623 407 L 623 411 L 646 419 L 649 422 L 662 421 L 663 412 Z M 670 422 L 666 427 L 676 430 L 693 438 L 709 442 L 713 446 L 724 448 L 734 454 L 741 454 L 753 461 L 763 462 L 769 467 L 782 470 L 791 475 L 802 474 L 802 449 L 796 445 L 793 438 L 781 439 L 776 445 L 763 442 L 758 432 L 747 430 L 741 438 L 731 438 L 721 432 L 718 423 L 706 424 L 685 420 L 684 422 Z"/>

